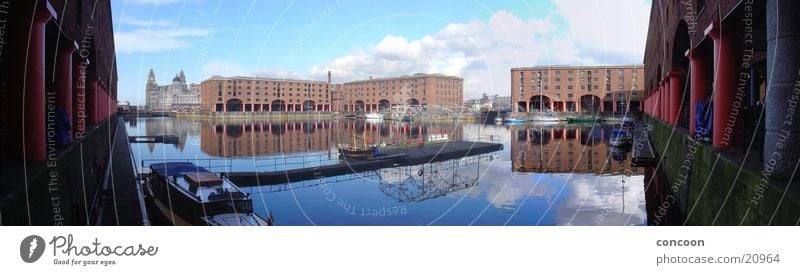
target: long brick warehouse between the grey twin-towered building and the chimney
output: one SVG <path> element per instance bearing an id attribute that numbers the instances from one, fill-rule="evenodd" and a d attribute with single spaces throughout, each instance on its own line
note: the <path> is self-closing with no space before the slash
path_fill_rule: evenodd
<path id="1" fill-rule="evenodd" d="M 206 112 L 327 112 L 328 82 L 252 76 L 212 76 L 200 83 L 201 110 Z"/>

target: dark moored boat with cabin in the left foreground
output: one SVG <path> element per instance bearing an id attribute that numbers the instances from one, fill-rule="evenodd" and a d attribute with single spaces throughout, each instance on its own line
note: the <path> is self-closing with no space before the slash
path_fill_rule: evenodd
<path id="1" fill-rule="evenodd" d="M 272 215 L 253 212 L 250 194 L 229 179 L 191 162 L 150 165 L 146 180 L 149 199 L 173 225 L 272 225 Z"/>

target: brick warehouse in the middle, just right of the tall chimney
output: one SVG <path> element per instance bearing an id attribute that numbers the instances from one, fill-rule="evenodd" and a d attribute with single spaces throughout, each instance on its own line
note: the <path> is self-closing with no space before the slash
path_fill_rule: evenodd
<path id="1" fill-rule="evenodd" d="M 400 105 L 461 105 L 464 80 L 442 74 L 414 74 L 347 82 L 337 91 L 341 111 L 379 111 Z M 338 109 L 337 109 L 338 110 Z"/>

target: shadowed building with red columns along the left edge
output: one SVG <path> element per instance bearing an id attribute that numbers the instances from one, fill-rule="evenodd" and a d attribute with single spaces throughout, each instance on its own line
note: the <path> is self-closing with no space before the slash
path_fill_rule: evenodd
<path id="1" fill-rule="evenodd" d="M 2 225 L 92 218 L 117 128 L 118 78 L 110 1 L 85 2 L 0 1 Z"/>

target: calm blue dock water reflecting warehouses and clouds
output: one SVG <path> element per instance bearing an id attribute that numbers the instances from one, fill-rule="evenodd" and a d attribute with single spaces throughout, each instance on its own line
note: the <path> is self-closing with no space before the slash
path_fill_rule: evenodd
<path id="1" fill-rule="evenodd" d="M 336 144 L 502 143 L 502 151 L 425 165 L 266 185 L 239 183 L 278 225 L 646 225 L 644 177 L 610 125 L 478 125 L 352 120 L 230 123 L 129 121 L 128 134 L 176 135 L 132 144 L 140 163 L 190 160 L 215 172 L 280 171 L 339 162 Z"/>

